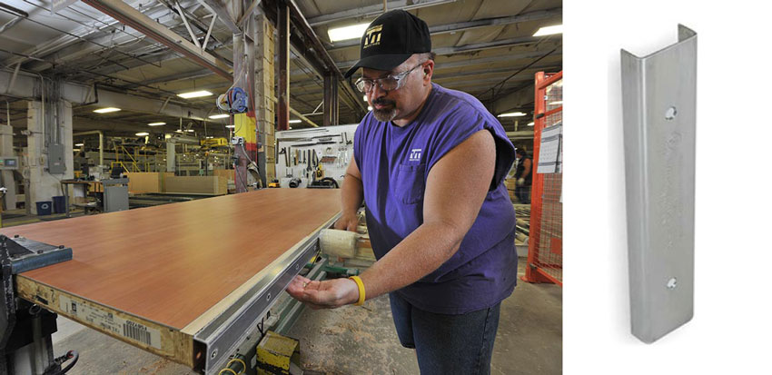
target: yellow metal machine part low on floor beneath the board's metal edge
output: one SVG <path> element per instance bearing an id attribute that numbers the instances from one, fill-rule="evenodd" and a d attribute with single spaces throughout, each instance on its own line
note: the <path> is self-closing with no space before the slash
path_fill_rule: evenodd
<path id="1" fill-rule="evenodd" d="M 300 360 L 300 341 L 274 331 L 265 333 L 257 344 L 257 374 L 290 373 L 290 362 Z"/>

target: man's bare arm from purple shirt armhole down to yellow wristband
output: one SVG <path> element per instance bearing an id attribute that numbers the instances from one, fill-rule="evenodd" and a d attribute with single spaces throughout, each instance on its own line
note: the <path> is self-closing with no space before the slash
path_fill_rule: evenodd
<path id="1" fill-rule="evenodd" d="M 419 281 L 459 250 L 480 213 L 495 163 L 493 136 L 481 130 L 434 164 L 424 192 L 423 223 L 361 274 L 368 299 Z"/>

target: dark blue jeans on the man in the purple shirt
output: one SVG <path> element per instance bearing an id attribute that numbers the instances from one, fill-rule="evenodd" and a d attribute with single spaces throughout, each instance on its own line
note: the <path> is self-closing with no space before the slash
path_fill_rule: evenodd
<path id="1" fill-rule="evenodd" d="M 397 336 L 403 347 L 416 350 L 421 375 L 490 373 L 500 303 L 448 315 L 421 311 L 396 293 L 389 293 L 389 300 Z"/>

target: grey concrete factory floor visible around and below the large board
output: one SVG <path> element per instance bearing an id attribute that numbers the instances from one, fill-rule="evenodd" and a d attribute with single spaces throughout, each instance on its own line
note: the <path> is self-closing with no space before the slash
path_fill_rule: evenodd
<path id="1" fill-rule="evenodd" d="M 525 260 L 521 259 L 520 273 Z M 193 374 L 182 365 L 139 350 L 65 318 L 58 320 L 54 355 L 78 350 L 69 374 Z M 301 362 L 314 374 L 418 374 L 414 350 L 402 348 L 387 296 L 364 307 L 305 309 L 290 335 L 301 340 Z M 562 289 L 520 282 L 501 304 L 491 373 L 560 374 Z"/>

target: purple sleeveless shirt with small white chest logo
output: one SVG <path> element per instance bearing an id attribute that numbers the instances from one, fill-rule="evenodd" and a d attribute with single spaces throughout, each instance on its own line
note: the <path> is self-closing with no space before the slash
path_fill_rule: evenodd
<path id="1" fill-rule="evenodd" d="M 412 123 L 399 127 L 367 113 L 354 135 L 367 228 L 375 257 L 381 259 L 423 222 L 423 192 L 434 163 L 482 129 L 496 141 L 496 169 L 477 219 L 450 260 L 395 291 L 423 311 L 463 314 L 486 309 L 514 289 L 518 273 L 515 211 L 504 177 L 515 160 L 515 149 L 480 101 L 439 84 L 432 84 L 426 104 Z"/>

